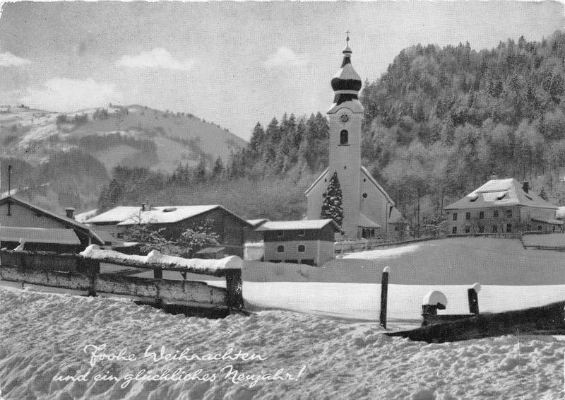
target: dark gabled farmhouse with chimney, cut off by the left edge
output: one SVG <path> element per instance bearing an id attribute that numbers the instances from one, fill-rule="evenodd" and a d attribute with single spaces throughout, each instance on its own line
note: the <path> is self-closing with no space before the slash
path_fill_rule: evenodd
<path id="1" fill-rule="evenodd" d="M 11 242 L 15 239 L 13 235 L 20 234 L 22 235 L 20 238 L 30 242 L 35 240 L 35 246 L 43 249 L 49 249 L 51 244 L 52 251 L 57 249 L 62 251 L 65 248 L 70 251 L 69 246 L 74 245 L 78 245 L 79 251 L 92 244 L 105 245 L 100 235 L 73 219 L 73 208 L 67 208 L 66 211 L 66 216 L 59 216 L 14 196 L 6 196 L 0 199 L 0 227 L 35 228 L 34 230 L 4 230 L 3 235 L 6 235 L 7 242 Z M 42 230 L 37 230 L 38 228 Z M 61 230 L 71 230 L 73 234 L 71 232 L 63 234 Z M 74 237 L 78 240 L 78 244 Z M 27 249 L 28 246 L 25 248 Z"/>

